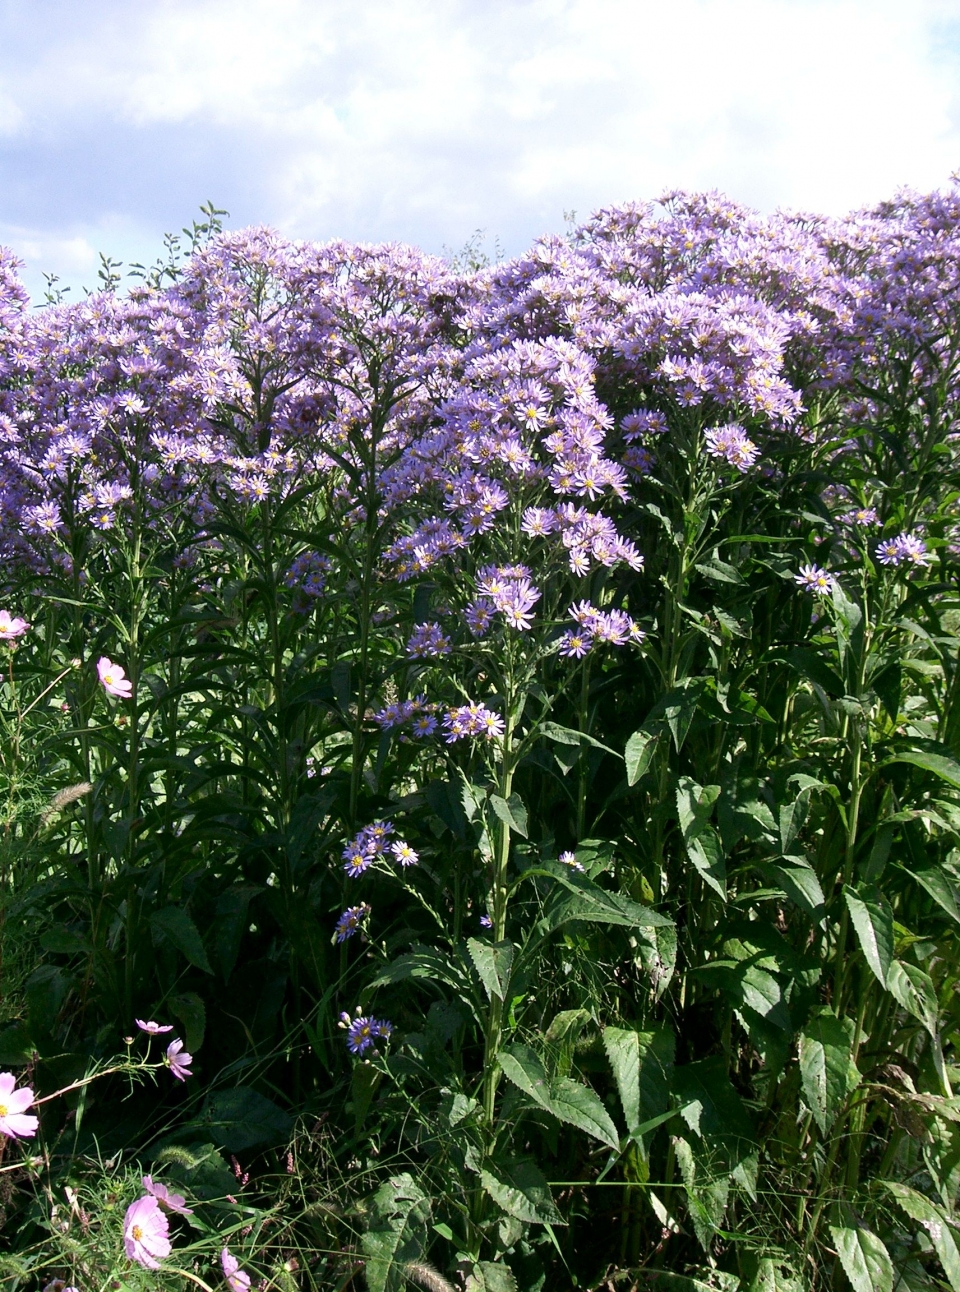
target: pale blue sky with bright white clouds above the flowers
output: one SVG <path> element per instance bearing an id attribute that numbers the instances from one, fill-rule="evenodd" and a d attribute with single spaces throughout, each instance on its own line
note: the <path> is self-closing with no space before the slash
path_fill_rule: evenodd
<path id="1" fill-rule="evenodd" d="M 522 252 L 718 189 L 840 214 L 960 168 L 960 0 L 0 0 L 0 243 L 76 296 L 229 227 Z"/>

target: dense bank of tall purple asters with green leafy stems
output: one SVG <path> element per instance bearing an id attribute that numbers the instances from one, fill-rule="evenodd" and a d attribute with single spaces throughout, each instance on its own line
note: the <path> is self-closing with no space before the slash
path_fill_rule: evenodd
<path id="1" fill-rule="evenodd" d="M 0 253 L 4 1286 L 960 1289 L 960 190 L 208 216 Z"/>

